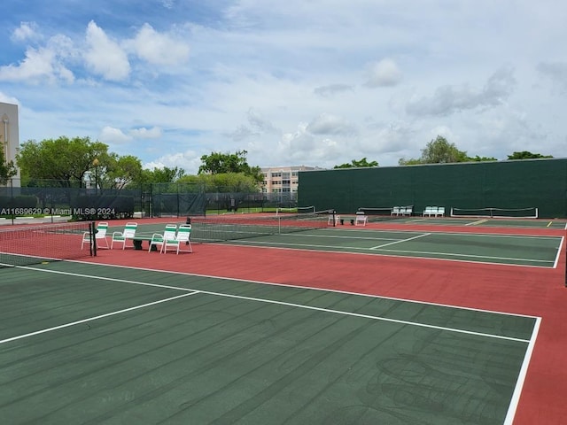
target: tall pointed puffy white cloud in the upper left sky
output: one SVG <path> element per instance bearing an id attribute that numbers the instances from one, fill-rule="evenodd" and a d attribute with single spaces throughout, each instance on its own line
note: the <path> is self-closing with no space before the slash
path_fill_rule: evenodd
<path id="1" fill-rule="evenodd" d="M 111 40 L 92 20 L 87 27 L 86 42 L 87 50 L 83 57 L 92 73 L 101 75 L 109 81 L 123 81 L 128 78 L 130 73 L 128 56 L 120 48 L 119 43 Z"/>

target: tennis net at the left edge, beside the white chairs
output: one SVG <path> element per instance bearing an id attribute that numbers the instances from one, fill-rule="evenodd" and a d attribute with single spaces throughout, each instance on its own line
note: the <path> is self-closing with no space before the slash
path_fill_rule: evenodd
<path id="1" fill-rule="evenodd" d="M 85 232 L 94 235 L 94 224 L 77 221 L 0 229 L 0 267 L 29 266 L 94 255 L 92 247 L 82 250 Z"/>

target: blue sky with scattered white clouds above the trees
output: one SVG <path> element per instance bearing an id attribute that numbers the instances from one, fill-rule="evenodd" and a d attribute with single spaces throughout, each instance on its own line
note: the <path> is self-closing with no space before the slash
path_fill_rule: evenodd
<path id="1" fill-rule="evenodd" d="M 437 135 L 470 156 L 567 157 L 567 3 L 4 0 L 0 101 L 20 143 L 89 136 L 196 174 L 395 166 Z"/>

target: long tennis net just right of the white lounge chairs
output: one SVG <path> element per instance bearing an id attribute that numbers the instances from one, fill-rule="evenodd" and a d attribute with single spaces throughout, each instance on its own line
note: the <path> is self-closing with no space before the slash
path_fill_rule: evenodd
<path id="1" fill-rule="evenodd" d="M 331 219 L 330 219 L 331 217 Z M 297 214 L 241 214 L 191 217 L 191 241 L 222 242 L 283 235 L 333 226 L 333 211 Z"/>

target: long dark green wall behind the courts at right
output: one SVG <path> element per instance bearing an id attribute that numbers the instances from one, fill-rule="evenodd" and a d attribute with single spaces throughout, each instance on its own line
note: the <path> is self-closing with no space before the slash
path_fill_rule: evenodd
<path id="1" fill-rule="evenodd" d="M 432 164 L 299 173 L 298 205 L 354 213 L 360 207 L 538 207 L 567 217 L 567 159 Z"/>

